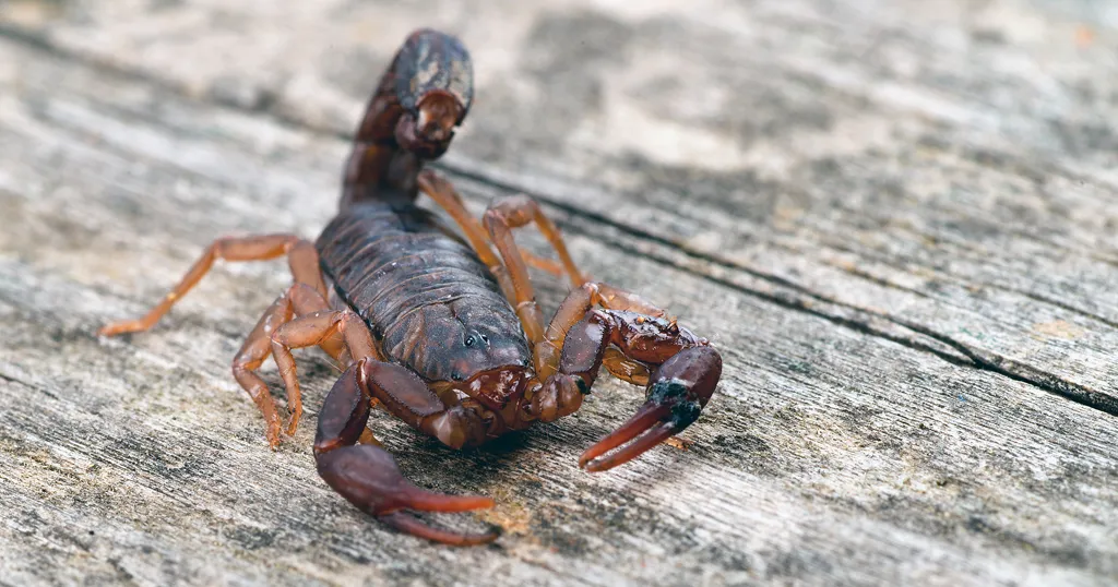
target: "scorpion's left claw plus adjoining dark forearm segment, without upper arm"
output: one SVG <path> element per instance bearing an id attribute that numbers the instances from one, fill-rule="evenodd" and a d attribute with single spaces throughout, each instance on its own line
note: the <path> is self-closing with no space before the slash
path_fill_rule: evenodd
<path id="1" fill-rule="evenodd" d="M 420 538 L 456 546 L 483 545 L 500 532 L 461 533 L 427 526 L 405 510 L 463 512 L 492 508 L 493 500 L 473 495 L 445 495 L 408 481 L 396 460 L 383 448 L 357 445 L 366 429 L 371 397 L 359 378 L 367 361 L 351 366 L 334 384 L 319 415 L 314 455 L 319 475 L 361 511 L 392 528 Z M 382 369 L 394 368 L 377 363 Z"/>

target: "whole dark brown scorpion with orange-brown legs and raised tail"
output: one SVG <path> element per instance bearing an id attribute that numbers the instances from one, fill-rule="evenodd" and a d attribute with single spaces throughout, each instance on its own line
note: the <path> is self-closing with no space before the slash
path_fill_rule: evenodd
<path id="1" fill-rule="evenodd" d="M 442 177 L 440 157 L 473 97 L 462 42 L 411 34 L 358 127 L 342 177 L 338 216 L 316 243 L 293 235 L 216 240 L 144 318 L 105 335 L 150 329 L 216 259 L 286 255 L 294 283 L 260 316 L 233 360 L 237 381 L 266 422 L 268 444 L 292 435 L 302 395 L 292 349 L 320 347 L 343 368 L 319 413 L 319 473 L 338 493 L 394 528 L 452 545 L 489 542 L 496 531 L 433 528 L 407 510 L 489 508 L 479 496 L 432 493 L 408 482 L 367 423 L 380 406 L 452 448 L 475 446 L 534 422 L 576 411 L 605 367 L 646 387 L 645 403 L 579 464 L 605 471 L 686 428 L 710 399 L 722 361 L 705 339 L 639 296 L 578 271 L 555 224 L 534 200 L 490 206 L 481 220 Z M 416 206 L 427 195 L 456 223 Z M 558 262 L 522 252 L 512 231 L 534 224 Z M 574 288 L 544 324 L 528 266 L 566 275 Z M 287 389 L 286 429 L 257 369 L 272 356 Z"/>

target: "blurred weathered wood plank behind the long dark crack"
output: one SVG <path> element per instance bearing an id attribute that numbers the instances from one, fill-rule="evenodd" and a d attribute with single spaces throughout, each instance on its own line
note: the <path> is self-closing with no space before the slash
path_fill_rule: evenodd
<path id="1" fill-rule="evenodd" d="M 340 133 L 370 64 L 417 20 L 448 28 L 480 86 L 452 169 L 1118 413 L 1118 23 L 1095 4 L 157 4 L 6 17 Z"/>

